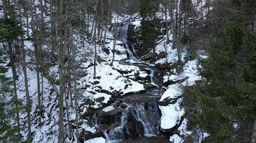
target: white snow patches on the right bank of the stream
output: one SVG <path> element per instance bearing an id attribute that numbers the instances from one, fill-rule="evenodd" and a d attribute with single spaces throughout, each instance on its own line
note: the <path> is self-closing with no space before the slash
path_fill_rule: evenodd
<path id="1" fill-rule="evenodd" d="M 172 35 L 170 35 L 172 38 Z M 160 53 L 163 51 L 163 46 L 166 46 L 168 49 L 168 58 L 159 59 L 155 61 L 155 64 L 163 64 L 168 62 L 170 64 L 178 61 L 177 50 L 172 49 L 172 43 L 168 45 L 164 45 L 164 42 L 160 42 L 156 46 L 156 52 Z M 205 59 L 207 56 L 204 54 L 204 51 L 198 51 L 198 59 Z M 186 61 L 185 57 L 188 56 L 188 51 L 183 49 L 182 53 L 182 62 L 184 63 L 181 72 L 178 71 L 180 69 L 171 69 L 172 74 L 166 74 L 163 79 L 163 82 L 172 81 L 175 84 L 170 84 L 168 89 L 162 94 L 160 98 L 160 102 L 170 101 L 168 106 L 159 106 L 162 117 L 161 117 L 161 129 L 172 129 L 177 124 L 180 124 L 178 127 L 178 131 L 180 134 L 173 134 L 170 136 L 170 142 L 180 143 L 183 142 L 184 137 L 188 137 L 191 132 L 187 129 L 187 119 L 183 119 L 183 114 L 185 114 L 185 109 L 180 107 L 180 104 L 183 101 L 183 87 L 192 86 L 196 81 L 201 80 L 201 76 L 198 73 L 198 59 L 193 59 L 191 61 Z M 201 135 L 198 135 L 200 137 Z M 207 137 L 207 134 L 204 133 L 204 136 Z M 204 139 L 204 138 L 203 138 Z M 201 139 L 202 140 L 202 139 Z"/>

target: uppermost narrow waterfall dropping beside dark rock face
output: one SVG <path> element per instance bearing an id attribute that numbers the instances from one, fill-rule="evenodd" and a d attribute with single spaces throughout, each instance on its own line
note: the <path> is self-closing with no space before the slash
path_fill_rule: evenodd
<path id="1" fill-rule="evenodd" d="M 128 28 L 129 24 L 120 23 L 117 25 L 116 30 L 112 31 L 114 32 L 114 36 L 116 36 L 116 39 L 119 39 L 124 44 L 124 49 L 127 51 L 127 56 L 129 59 L 136 59 L 134 56 L 134 48 L 131 45 L 127 44 L 127 37 L 128 37 Z"/>

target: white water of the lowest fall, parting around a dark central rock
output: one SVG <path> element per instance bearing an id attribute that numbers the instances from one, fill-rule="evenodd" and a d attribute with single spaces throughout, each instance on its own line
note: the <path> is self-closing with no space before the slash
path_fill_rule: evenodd
<path id="1" fill-rule="evenodd" d="M 147 109 L 145 108 L 147 107 Z M 160 128 L 160 114 L 157 113 L 156 103 L 133 103 L 129 104 L 127 109 L 124 109 L 121 116 L 121 121 L 118 127 L 109 129 L 104 132 L 107 143 L 122 142 L 124 139 L 129 137 L 129 129 L 127 126 L 128 114 L 132 113 L 132 116 L 143 124 L 144 134 L 140 134 L 140 137 L 155 137 L 159 134 Z M 135 124 L 134 124 L 135 126 Z M 126 130 L 126 132 L 124 132 Z"/>

